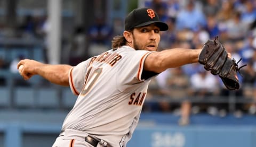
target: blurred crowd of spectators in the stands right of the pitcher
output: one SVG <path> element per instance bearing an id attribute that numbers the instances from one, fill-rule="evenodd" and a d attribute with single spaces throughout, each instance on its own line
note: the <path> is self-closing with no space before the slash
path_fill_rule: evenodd
<path id="1" fill-rule="evenodd" d="M 190 114 L 226 116 L 229 100 L 234 98 L 237 103 L 232 113 L 236 117 L 256 113 L 256 1 L 152 0 L 145 1 L 145 6 L 153 8 L 169 25 L 169 30 L 162 32 L 160 50 L 202 48 L 208 39 L 218 36 L 236 62 L 242 58 L 239 67 L 247 64 L 238 74 L 241 88 L 235 91 L 227 90 L 219 76 L 205 71 L 202 65 L 169 69 L 151 83 L 148 99 L 158 103 L 148 101 L 145 111 L 177 113 L 181 115 L 179 123 L 186 125 Z M 249 99 L 251 102 L 243 103 Z"/>

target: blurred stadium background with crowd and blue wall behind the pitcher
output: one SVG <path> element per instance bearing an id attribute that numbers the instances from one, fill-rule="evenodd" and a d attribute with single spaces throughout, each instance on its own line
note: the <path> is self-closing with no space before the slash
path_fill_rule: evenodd
<path id="1" fill-rule="evenodd" d="M 252 0 L 0 0 L 0 147 L 51 146 L 76 97 L 39 76 L 24 81 L 20 59 L 76 65 L 111 48 L 133 8 L 150 7 L 169 30 L 159 50 L 219 41 L 242 61 L 241 88 L 191 64 L 149 85 L 128 146 L 256 146 L 256 2 Z"/>

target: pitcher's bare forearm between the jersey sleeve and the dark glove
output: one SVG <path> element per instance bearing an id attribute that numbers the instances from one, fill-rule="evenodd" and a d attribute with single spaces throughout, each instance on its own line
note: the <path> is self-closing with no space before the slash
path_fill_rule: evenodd
<path id="1" fill-rule="evenodd" d="M 202 49 L 174 48 L 151 53 L 144 63 L 144 70 L 161 73 L 167 68 L 197 63 Z"/>

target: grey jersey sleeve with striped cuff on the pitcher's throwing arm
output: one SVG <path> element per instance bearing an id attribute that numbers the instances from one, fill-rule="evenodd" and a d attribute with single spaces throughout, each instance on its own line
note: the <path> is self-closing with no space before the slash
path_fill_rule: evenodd
<path id="1" fill-rule="evenodd" d="M 79 95 L 85 82 L 85 73 L 90 59 L 72 67 L 69 71 L 69 86 L 73 94 Z"/>

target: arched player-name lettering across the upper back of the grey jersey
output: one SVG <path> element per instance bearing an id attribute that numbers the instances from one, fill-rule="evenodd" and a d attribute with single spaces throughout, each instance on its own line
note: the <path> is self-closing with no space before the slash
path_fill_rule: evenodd
<path id="1" fill-rule="evenodd" d="M 94 62 L 107 63 L 110 66 L 114 66 L 118 62 L 118 60 L 120 60 L 121 58 L 122 58 L 122 56 L 117 53 L 112 54 L 109 52 L 105 52 L 99 56 L 92 57 L 92 59 L 89 63 L 89 66 Z"/>

